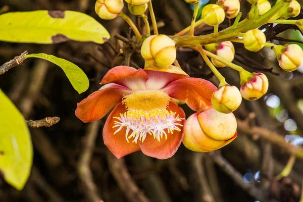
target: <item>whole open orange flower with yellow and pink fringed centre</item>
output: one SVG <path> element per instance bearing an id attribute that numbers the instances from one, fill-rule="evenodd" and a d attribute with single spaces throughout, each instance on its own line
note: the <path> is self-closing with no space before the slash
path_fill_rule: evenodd
<path id="1" fill-rule="evenodd" d="M 83 122 L 105 117 L 105 145 L 117 157 L 141 150 L 149 157 L 172 157 L 184 135 L 185 114 L 171 97 L 194 111 L 211 108 L 216 90 L 211 82 L 175 67 L 170 72 L 118 66 L 104 76 L 99 90 L 78 103 L 76 116 Z M 179 70 L 179 72 L 177 71 Z"/>

